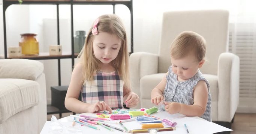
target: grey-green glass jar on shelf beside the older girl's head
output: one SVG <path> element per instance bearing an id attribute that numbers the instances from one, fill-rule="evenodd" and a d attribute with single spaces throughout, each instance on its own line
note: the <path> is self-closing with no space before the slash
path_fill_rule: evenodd
<path id="1" fill-rule="evenodd" d="M 79 53 L 84 47 L 84 41 L 86 38 L 85 31 L 76 31 L 76 35 L 74 36 L 74 52 Z"/>

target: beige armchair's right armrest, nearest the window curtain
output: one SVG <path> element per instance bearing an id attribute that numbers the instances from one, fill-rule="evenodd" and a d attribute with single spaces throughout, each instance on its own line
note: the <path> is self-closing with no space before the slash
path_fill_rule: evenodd
<path id="1" fill-rule="evenodd" d="M 231 122 L 239 103 L 240 59 L 224 52 L 218 61 L 218 120 Z"/>

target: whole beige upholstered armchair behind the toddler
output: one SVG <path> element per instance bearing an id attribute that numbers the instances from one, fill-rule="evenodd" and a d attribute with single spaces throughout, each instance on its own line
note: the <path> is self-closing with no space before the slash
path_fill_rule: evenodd
<path id="1" fill-rule="evenodd" d="M 130 55 L 133 91 L 140 96 L 137 108 L 151 108 L 151 90 L 171 65 L 170 44 L 182 31 L 194 31 L 207 41 L 207 62 L 200 71 L 210 83 L 213 121 L 231 122 L 239 102 L 239 57 L 228 52 L 228 19 L 225 10 L 165 12 L 159 54 Z M 156 44 L 157 45 L 157 44 Z"/>

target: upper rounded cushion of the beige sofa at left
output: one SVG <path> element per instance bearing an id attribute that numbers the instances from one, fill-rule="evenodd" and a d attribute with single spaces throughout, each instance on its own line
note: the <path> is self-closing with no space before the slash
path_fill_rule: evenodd
<path id="1" fill-rule="evenodd" d="M 22 65 L 22 66 L 21 66 Z M 36 80 L 43 72 L 43 64 L 36 60 L 0 60 L 0 78 Z"/>

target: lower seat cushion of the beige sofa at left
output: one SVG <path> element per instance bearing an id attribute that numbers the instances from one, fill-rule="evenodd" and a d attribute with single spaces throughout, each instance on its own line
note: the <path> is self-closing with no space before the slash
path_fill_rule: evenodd
<path id="1" fill-rule="evenodd" d="M 25 79 L 0 79 L 0 124 L 39 102 L 39 84 Z"/>

